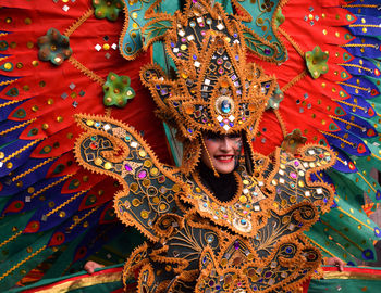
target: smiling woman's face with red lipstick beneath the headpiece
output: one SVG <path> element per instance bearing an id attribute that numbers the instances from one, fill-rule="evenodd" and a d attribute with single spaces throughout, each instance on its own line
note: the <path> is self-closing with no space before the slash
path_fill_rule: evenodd
<path id="1" fill-rule="evenodd" d="M 235 162 L 238 160 L 242 146 L 239 135 L 205 135 L 205 149 L 201 153 L 201 161 L 205 165 L 220 174 L 229 174 L 234 170 Z M 208 153 L 210 160 L 208 157 Z"/>

